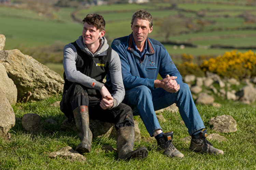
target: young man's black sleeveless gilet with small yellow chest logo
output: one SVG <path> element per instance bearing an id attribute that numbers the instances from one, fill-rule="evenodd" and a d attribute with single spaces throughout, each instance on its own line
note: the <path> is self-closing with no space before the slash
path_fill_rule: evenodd
<path id="1" fill-rule="evenodd" d="M 82 51 L 76 42 L 71 43 L 76 48 L 77 57 L 75 60 L 76 70 L 87 75 L 88 77 L 95 79 L 96 81 L 103 83 L 103 79 L 109 71 L 109 61 L 111 57 L 111 47 L 109 47 L 103 53 L 90 56 L 86 52 Z M 68 90 L 68 88 L 73 84 L 66 78 L 65 72 L 63 73 L 64 77 L 64 88 L 63 95 Z M 91 84 L 91 88 L 88 88 L 88 95 L 93 95 L 96 89 L 93 88 L 94 84 Z"/>

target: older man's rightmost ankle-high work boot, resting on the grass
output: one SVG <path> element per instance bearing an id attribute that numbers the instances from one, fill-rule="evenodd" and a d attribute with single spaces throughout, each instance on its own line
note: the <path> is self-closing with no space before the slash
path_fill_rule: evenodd
<path id="1" fill-rule="evenodd" d="M 223 155 L 223 150 L 216 149 L 212 144 L 206 139 L 207 132 L 206 130 L 201 131 L 197 135 L 192 135 L 189 149 L 195 152 L 203 152 L 209 154 Z"/>

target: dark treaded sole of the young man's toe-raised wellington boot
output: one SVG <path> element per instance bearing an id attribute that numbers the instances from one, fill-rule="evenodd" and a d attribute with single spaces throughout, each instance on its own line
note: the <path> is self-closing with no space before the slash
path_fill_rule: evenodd
<path id="1" fill-rule="evenodd" d="M 121 156 L 120 159 L 123 159 L 123 160 L 129 160 L 131 158 L 142 159 L 142 158 L 146 158 L 147 155 L 148 155 L 147 148 L 140 147 L 134 151 L 129 152 L 128 154 L 126 154 L 124 156 Z"/>

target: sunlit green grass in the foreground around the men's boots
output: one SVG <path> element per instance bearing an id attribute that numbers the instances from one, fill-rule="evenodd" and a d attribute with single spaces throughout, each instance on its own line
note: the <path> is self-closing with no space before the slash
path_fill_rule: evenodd
<path id="1" fill-rule="evenodd" d="M 189 143 L 181 141 L 188 136 L 187 129 L 179 113 L 163 112 L 166 122 L 160 122 L 165 132 L 174 131 L 173 143 L 184 155 L 184 159 L 169 158 L 157 151 L 157 143 L 146 132 L 145 126 L 139 117 L 142 140 L 135 142 L 134 148 L 145 146 L 148 157 L 144 160 L 118 161 L 114 152 L 105 153 L 102 145 L 116 147 L 113 138 L 93 138 L 90 153 L 84 154 L 86 161 L 70 162 L 57 158 L 51 159 L 47 155 L 65 146 L 75 149 L 80 142 L 77 133 L 73 131 L 62 131 L 60 123 L 65 119 L 59 108 L 49 106 L 61 97 L 48 98 L 39 102 L 28 102 L 13 106 L 15 116 L 22 118 L 24 114 L 35 113 L 40 115 L 41 121 L 48 118 L 56 120 L 57 125 L 47 126 L 48 132 L 40 135 L 31 135 L 24 131 L 21 123 L 16 123 L 10 130 L 11 140 L 0 138 L 0 166 L 1 169 L 255 169 L 256 157 L 256 108 L 255 104 L 247 106 L 238 102 L 218 99 L 222 107 L 197 105 L 198 111 L 207 127 L 208 134 L 216 133 L 211 129 L 208 121 L 211 117 L 220 115 L 231 115 L 237 121 L 237 132 L 219 133 L 228 141 L 212 144 L 224 150 L 223 156 L 200 154 L 188 150 Z"/>

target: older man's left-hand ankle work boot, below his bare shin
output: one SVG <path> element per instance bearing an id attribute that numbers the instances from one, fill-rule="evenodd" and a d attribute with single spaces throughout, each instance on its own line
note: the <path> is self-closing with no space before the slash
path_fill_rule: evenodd
<path id="1" fill-rule="evenodd" d="M 180 153 L 172 144 L 173 132 L 163 134 L 163 137 L 157 139 L 158 150 L 162 150 L 163 154 L 170 157 L 183 158 L 184 155 Z"/>

